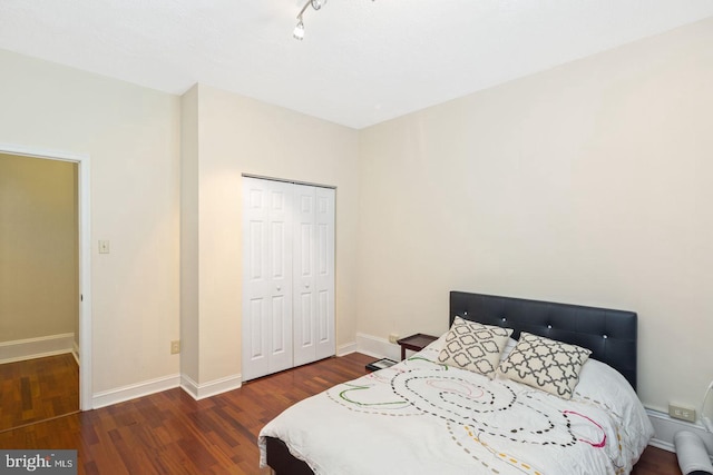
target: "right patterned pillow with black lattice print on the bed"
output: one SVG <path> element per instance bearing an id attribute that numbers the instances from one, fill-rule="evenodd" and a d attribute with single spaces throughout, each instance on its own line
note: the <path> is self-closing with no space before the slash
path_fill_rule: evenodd
<path id="1" fill-rule="evenodd" d="M 498 373 L 509 379 L 570 399 L 579 372 L 592 354 L 576 345 L 556 342 L 526 331 L 520 334 Z"/>

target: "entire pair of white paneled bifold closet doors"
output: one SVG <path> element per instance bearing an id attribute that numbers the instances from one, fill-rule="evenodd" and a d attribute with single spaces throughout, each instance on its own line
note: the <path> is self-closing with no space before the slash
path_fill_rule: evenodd
<path id="1" fill-rule="evenodd" d="M 333 189 L 244 178 L 243 380 L 334 355 Z"/>

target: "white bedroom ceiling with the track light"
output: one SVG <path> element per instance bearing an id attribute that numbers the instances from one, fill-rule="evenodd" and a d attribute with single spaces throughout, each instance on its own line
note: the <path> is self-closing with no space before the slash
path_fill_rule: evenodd
<path id="1" fill-rule="evenodd" d="M 0 49 L 361 129 L 713 16 L 713 0 L 1 0 Z M 1 72 L 0 72 L 1 73 Z"/>

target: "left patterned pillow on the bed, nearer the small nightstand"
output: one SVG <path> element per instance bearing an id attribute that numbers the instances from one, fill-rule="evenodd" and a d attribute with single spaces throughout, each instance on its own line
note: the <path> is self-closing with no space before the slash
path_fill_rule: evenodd
<path id="1" fill-rule="evenodd" d="M 510 328 L 482 325 L 456 317 L 446 335 L 438 360 L 481 375 L 495 375 L 500 353 L 511 333 Z"/>

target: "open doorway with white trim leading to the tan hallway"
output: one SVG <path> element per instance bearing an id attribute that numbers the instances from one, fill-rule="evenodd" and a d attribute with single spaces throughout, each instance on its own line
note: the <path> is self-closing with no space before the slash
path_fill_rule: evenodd
<path id="1" fill-rule="evenodd" d="M 91 319 L 89 158 L 0 144 L 0 360 L 25 410 L 3 404 L 2 432 L 91 408 Z"/>

